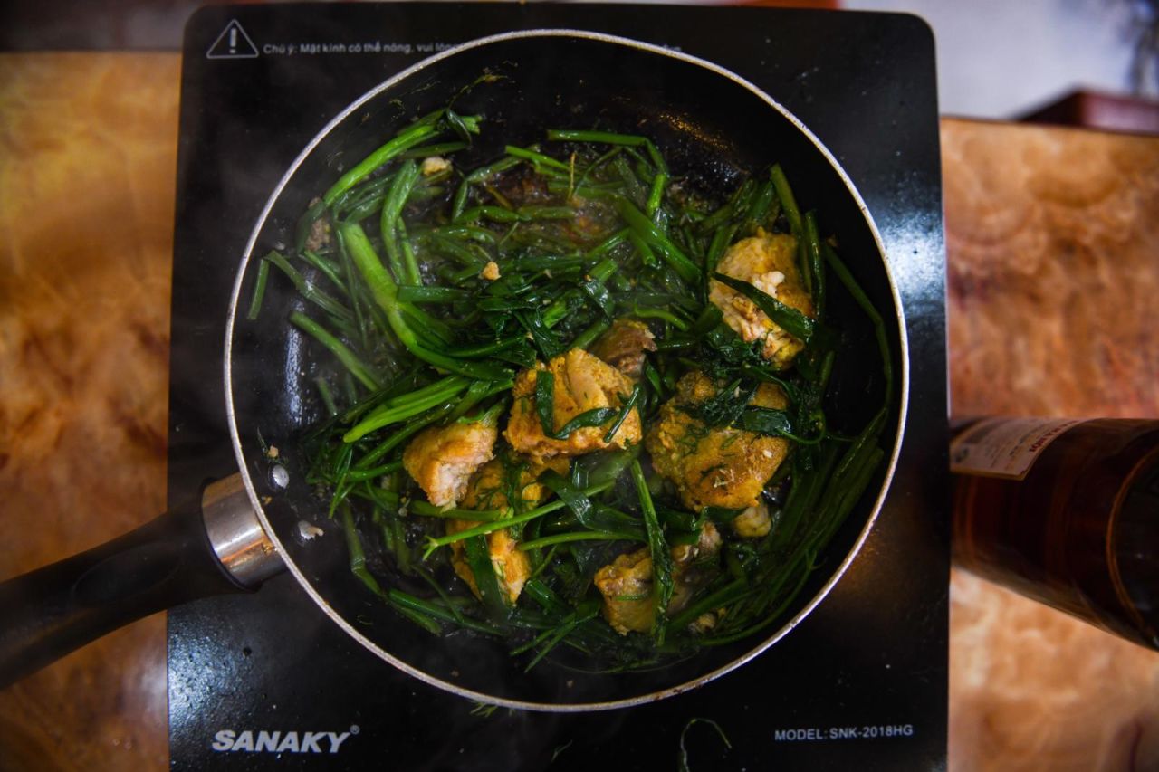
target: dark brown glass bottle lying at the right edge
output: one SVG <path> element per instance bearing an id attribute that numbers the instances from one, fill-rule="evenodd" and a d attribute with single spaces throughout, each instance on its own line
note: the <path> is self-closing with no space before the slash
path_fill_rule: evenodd
<path id="1" fill-rule="evenodd" d="M 1159 421 L 954 423 L 963 568 L 1159 649 Z"/>

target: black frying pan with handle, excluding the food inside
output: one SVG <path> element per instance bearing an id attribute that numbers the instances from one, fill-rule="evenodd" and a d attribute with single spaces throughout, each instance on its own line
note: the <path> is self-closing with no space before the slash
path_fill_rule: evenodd
<path id="1" fill-rule="evenodd" d="M 484 74 L 500 78 L 479 83 Z M 500 155 L 504 144 L 538 141 L 549 126 L 649 134 L 675 173 L 721 192 L 735 188 L 742 170 L 780 162 L 802 209 L 819 211 L 823 231 L 836 234 L 845 261 L 885 318 L 896 373 L 883 434 L 888 463 L 819 558 L 823 568 L 766 636 L 648 672 L 596 673 L 563 658 L 525 673 L 501 643 L 468 634 L 432 638 L 350 573 L 342 529 L 305 482 L 300 452 L 301 435 L 322 417 L 313 379 L 327 359 L 286 321 L 302 303 L 287 283 L 270 282 L 256 321 L 247 320 L 243 308 L 257 258 L 293 240 L 309 199 L 384 138 L 452 100 L 460 114 L 484 116 L 481 140 L 469 151 L 476 158 L 466 159 L 467 166 Z M 874 334 L 844 292 L 831 290 L 829 304 L 829 318 L 847 340 L 826 412 L 832 423 L 862 425 L 882 399 Z M 0 684 L 145 613 L 201 595 L 253 589 L 284 562 L 335 624 L 367 649 L 464 697 L 575 711 L 676 694 L 775 643 L 838 581 L 882 507 L 909 385 L 902 312 L 881 240 L 852 183 L 819 141 L 772 99 L 714 65 L 564 30 L 501 35 L 435 56 L 359 99 L 319 133 L 270 196 L 247 245 L 227 325 L 225 381 L 240 478 L 211 487 L 204 512 L 196 507 L 172 512 L 116 542 L 0 585 L 0 611 L 15 622 L 0 632 Z M 271 445 L 276 458 L 268 452 Z M 311 526 L 322 536 L 304 538 Z M 371 534 L 364 544 L 367 549 L 374 544 Z"/>

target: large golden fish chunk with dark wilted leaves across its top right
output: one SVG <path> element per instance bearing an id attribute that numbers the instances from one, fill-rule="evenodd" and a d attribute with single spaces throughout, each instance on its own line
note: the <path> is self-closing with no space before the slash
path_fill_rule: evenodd
<path id="1" fill-rule="evenodd" d="M 704 373 L 686 374 L 677 384 L 676 396 L 661 406 L 659 421 L 644 440 L 656 472 L 676 486 L 680 501 L 695 512 L 705 507 L 756 507 L 789 451 L 782 437 L 708 427 L 685 412 L 717 391 Z M 783 409 L 788 401 L 777 386 L 761 384 L 750 405 Z"/>

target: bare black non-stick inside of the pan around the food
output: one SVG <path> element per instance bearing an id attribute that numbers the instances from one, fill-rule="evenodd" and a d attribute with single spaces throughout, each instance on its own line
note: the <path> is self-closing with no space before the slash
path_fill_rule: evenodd
<path id="1" fill-rule="evenodd" d="M 676 174 L 708 191 L 730 191 L 743 175 L 780 162 L 802 210 L 818 210 L 823 233 L 837 238 L 846 263 L 885 318 L 898 396 L 892 425 L 883 436 L 892 442 L 897 435 L 904 401 L 899 388 L 904 347 L 896 296 L 859 199 L 810 137 L 743 82 L 685 58 L 595 37 L 516 36 L 460 50 L 388 81 L 333 125 L 275 191 L 243 268 L 242 311 L 233 325 L 229 364 L 240 452 L 257 496 L 269 497 L 264 511 L 272 536 L 323 607 L 367 646 L 429 679 L 493 701 L 624 704 L 724 669 L 781 635 L 783 622 L 752 640 L 684 662 L 619 675 L 581 672 L 566 662 L 542 663 L 529 673 L 502 644 L 466 633 L 433 638 L 398 616 L 350 573 L 341 525 L 327 517 L 326 502 L 304 482 L 301 436 L 322 418 L 313 379 L 329 365 L 320 348 L 286 321 L 304 306 L 289 282 L 277 281 L 280 277 L 271 275 L 261 316 L 245 319 L 256 258 L 293 242 L 296 223 L 309 201 L 343 169 L 415 117 L 452 102 L 460 114 L 483 117 L 482 136 L 471 151 L 475 158 L 468 165 L 500 155 L 504 145 L 540 141 L 549 128 L 651 136 Z M 866 423 L 881 403 L 881 365 L 872 326 L 847 293 L 833 286 L 829 303 L 828 314 L 846 341 L 834 371 L 829 420 L 831 425 L 852 430 Z M 278 449 L 276 460 L 265 452 L 269 445 Z M 290 472 L 285 490 L 272 483 L 275 464 Z M 875 485 L 821 556 L 823 568 L 785 614 L 786 621 L 814 603 L 860 544 L 888 466 L 883 464 Z M 321 527 L 325 536 L 302 539 L 302 520 Z M 380 566 L 372 548 L 377 537 L 370 530 L 364 542 L 372 565 Z"/>

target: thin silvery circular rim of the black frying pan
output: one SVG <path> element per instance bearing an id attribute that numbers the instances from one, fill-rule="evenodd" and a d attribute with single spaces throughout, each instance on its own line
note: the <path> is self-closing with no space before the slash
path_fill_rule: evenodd
<path id="1" fill-rule="evenodd" d="M 770 108 L 779 112 L 785 119 L 789 121 L 793 126 L 800 131 L 806 139 L 822 154 L 822 156 L 829 162 L 832 169 L 837 173 L 841 183 L 845 185 L 846 191 L 853 198 L 857 204 L 858 210 L 861 212 L 861 217 L 865 220 L 866 226 L 869 228 L 869 233 L 873 236 L 874 245 L 877 249 L 877 258 L 881 262 L 881 267 L 885 272 L 885 279 L 889 285 L 889 292 L 894 300 L 894 308 L 896 313 L 897 323 L 897 343 L 898 343 L 898 358 L 901 363 L 901 385 L 897 392 L 897 398 L 899 399 L 898 413 L 897 413 L 897 429 L 892 438 L 892 450 L 889 456 L 889 463 L 885 467 L 885 473 L 882 479 L 882 483 L 877 491 L 877 496 L 874 500 L 873 507 L 865 520 L 861 531 L 859 532 L 857 539 L 851 545 L 847 554 L 841 560 L 840 565 L 830 575 L 829 580 L 817 590 L 817 592 L 802 606 L 802 609 L 794 614 L 790 619 L 785 621 L 780 627 L 778 627 L 771 635 L 759 641 L 749 651 L 739 655 L 738 657 L 727 662 L 726 664 L 707 672 L 691 680 L 684 682 L 676 686 L 669 686 L 662 690 L 657 690 L 647 694 L 640 694 L 634 697 L 628 697 L 624 699 L 606 700 L 599 702 L 532 702 L 519 699 L 496 697 L 494 694 L 487 694 L 483 692 L 478 692 L 471 689 L 465 689 L 460 685 L 443 680 L 437 678 L 414 665 L 398 658 L 391 651 L 386 650 L 379 643 L 366 638 L 358 628 L 351 625 L 341 613 L 335 611 L 327 599 L 322 597 L 321 592 L 314 587 L 314 583 L 305 575 L 305 573 L 298 567 L 294 560 L 291 558 L 290 552 L 283 546 L 282 540 L 277 536 L 272 523 L 265 514 L 265 509 L 262 504 L 262 497 L 258 495 L 257 489 L 254 485 L 254 480 L 250 476 L 249 467 L 247 464 L 247 457 L 241 446 L 241 436 L 238 430 L 238 414 L 234 408 L 233 399 L 233 336 L 234 336 L 234 323 L 238 319 L 238 308 L 241 303 L 241 290 L 242 283 L 246 277 L 246 270 L 249 267 L 250 260 L 254 257 L 254 249 L 257 246 L 257 240 L 261 235 L 262 230 L 265 226 L 265 221 L 274 210 L 276 202 L 282 197 L 283 191 L 290 182 L 290 179 L 294 175 L 302 162 L 315 151 L 315 148 L 330 134 L 330 132 L 337 128 L 342 122 L 344 122 L 351 114 L 359 110 L 369 101 L 377 97 L 384 90 L 394 87 L 395 85 L 410 79 L 417 73 L 427 70 L 428 67 L 451 57 L 458 56 L 465 51 L 474 50 L 478 48 L 487 46 L 495 43 L 502 43 L 506 41 L 516 39 L 527 39 L 527 38 L 549 38 L 549 37 L 563 37 L 563 38 L 578 38 L 596 41 L 600 43 L 608 43 L 612 45 L 626 46 L 630 49 L 637 49 L 644 51 L 646 53 L 651 53 L 661 57 L 668 57 L 670 59 L 676 59 L 686 64 L 702 67 L 708 70 L 716 75 L 732 81 L 734 83 L 748 89 L 755 96 L 765 102 Z M 761 88 L 757 87 L 755 83 L 750 82 L 745 78 L 736 74 L 735 72 L 722 67 L 715 63 L 707 59 L 695 57 L 683 51 L 676 51 L 661 45 L 655 45 L 651 43 L 644 43 L 628 37 L 608 35 L 605 32 L 595 32 L 590 30 L 582 29 L 568 29 L 568 28 L 540 28 L 540 29 L 526 29 L 526 30 L 515 30 L 509 32 L 501 32 L 496 35 L 488 35 L 480 37 L 466 43 L 455 45 L 446 51 L 435 53 L 414 65 L 407 67 L 406 70 L 395 73 L 391 78 L 384 80 L 378 86 L 365 92 L 362 96 L 356 99 L 353 102 L 349 103 L 341 112 L 338 112 L 334 118 L 331 118 L 315 136 L 311 141 L 302 148 L 302 151 L 294 158 L 293 162 L 286 168 L 282 179 L 275 185 L 272 192 L 262 207 L 261 213 L 255 220 L 253 231 L 250 232 L 249 239 L 246 242 L 246 248 L 242 254 L 241 263 L 238 267 L 238 274 L 234 279 L 233 291 L 229 298 L 229 307 L 226 318 L 225 328 L 225 349 L 224 349 L 224 385 L 225 385 L 225 400 L 226 400 L 226 417 L 229 428 L 229 439 L 233 445 L 234 457 L 238 461 L 238 467 L 241 473 L 242 482 L 246 487 L 246 493 L 249 496 L 250 505 L 254 508 L 254 512 L 257 515 L 262 527 L 265 531 L 267 538 L 274 544 L 278 554 L 280 555 L 285 567 L 294 576 L 294 580 L 299 585 L 306 591 L 311 599 L 322 610 L 322 612 L 334 621 L 338 627 L 341 627 L 348 635 L 355 639 L 358 643 L 370 650 L 372 654 L 378 656 L 380 660 L 386 661 L 391 665 L 398 668 L 404 673 L 417 678 L 418 680 L 440 689 L 459 697 L 484 702 L 488 705 L 498 705 L 502 707 L 519 709 L 519 711 L 535 711 L 535 712 L 548 712 L 548 713 L 584 713 L 593 711 L 610 711 L 617 708 L 634 707 L 639 705 L 646 705 L 649 702 L 659 701 L 669 697 L 675 697 L 687 691 L 692 691 L 702 686 L 721 676 L 724 676 L 737 668 L 751 662 L 753 658 L 766 651 L 768 648 L 774 646 L 778 641 L 790 633 L 806 617 L 808 617 L 825 597 L 830 593 L 838 581 L 845 575 L 850 566 L 857 559 L 858 554 L 861 552 L 866 539 L 869 537 L 869 532 L 873 530 L 874 524 L 877 520 L 877 516 L 884 505 L 887 494 L 894 480 L 894 474 L 897 469 L 898 459 L 902 452 L 902 439 L 905 435 L 905 425 L 909 413 L 910 402 L 910 357 L 909 357 L 909 337 L 905 328 L 905 312 L 902 305 L 902 298 L 898 290 L 897 281 L 894 277 L 894 271 L 890 267 L 889 258 L 887 256 L 885 246 L 882 241 L 881 233 L 877 230 L 876 223 L 874 223 L 873 216 L 869 213 L 869 209 L 865 201 L 861 198 L 861 194 L 858 192 L 857 187 L 853 181 L 846 174 L 845 169 L 841 167 L 837 158 L 829 151 L 828 147 L 817 138 L 808 126 L 804 125 L 795 115 L 793 115 L 788 109 L 780 104 L 772 96 L 766 94 Z"/>

